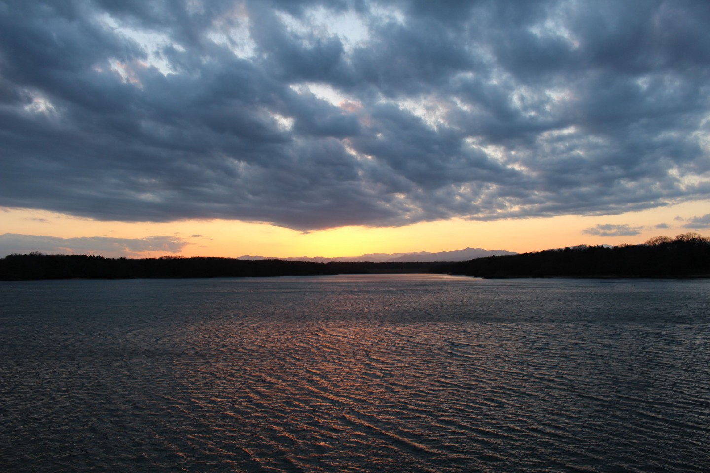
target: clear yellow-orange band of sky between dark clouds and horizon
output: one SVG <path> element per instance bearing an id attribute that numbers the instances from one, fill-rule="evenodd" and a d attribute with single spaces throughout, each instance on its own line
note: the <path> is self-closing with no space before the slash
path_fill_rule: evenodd
<path id="1" fill-rule="evenodd" d="M 0 209 L 0 234 L 127 239 L 170 236 L 188 243 L 180 253 L 187 257 L 337 257 L 366 253 L 452 251 L 466 247 L 530 252 L 580 244 L 638 244 L 658 235 L 674 237 L 693 230 L 685 228 L 684 223 L 689 218 L 708 213 L 709 204 L 709 201 L 694 201 L 616 216 L 557 216 L 501 221 L 452 219 L 404 227 L 349 226 L 309 233 L 267 223 L 226 220 L 126 223 L 94 221 L 48 211 Z M 656 228 L 661 223 L 668 228 Z M 618 237 L 583 233 L 585 228 L 598 224 L 628 225 L 638 228 L 640 233 Z M 710 233 L 698 231 L 704 235 Z M 153 251 L 132 256 L 158 257 L 166 254 L 169 252 Z"/>

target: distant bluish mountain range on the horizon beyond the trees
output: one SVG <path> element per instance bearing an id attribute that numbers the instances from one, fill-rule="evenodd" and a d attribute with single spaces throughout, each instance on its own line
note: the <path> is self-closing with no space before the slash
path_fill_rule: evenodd
<path id="1" fill-rule="evenodd" d="M 319 263 L 327 262 L 432 262 L 432 261 L 466 261 L 474 258 L 482 258 L 486 256 L 504 256 L 517 255 L 518 253 L 506 250 L 484 250 L 482 248 L 466 248 L 464 250 L 440 251 L 436 253 L 428 251 L 420 251 L 413 253 L 368 253 L 360 256 L 339 256 L 327 258 L 322 256 L 307 257 L 296 256 L 288 258 L 280 257 L 264 257 L 244 255 L 236 258 L 237 260 L 283 260 L 283 261 L 311 261 Z"/>

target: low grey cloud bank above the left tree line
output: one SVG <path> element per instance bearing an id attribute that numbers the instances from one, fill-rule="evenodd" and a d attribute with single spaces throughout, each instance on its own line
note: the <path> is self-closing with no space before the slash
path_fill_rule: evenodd
<path id="1" fill-rule="evenodd" d="M 175 237 L 148 238 L 81 237 L 57 238 L 44 235 L 0 235 L 0 255 L 39 251 L 51 255 L 102 255 L 106 257 L 140 257 L 146 252 L 179 253 L 187 246 Z"/>

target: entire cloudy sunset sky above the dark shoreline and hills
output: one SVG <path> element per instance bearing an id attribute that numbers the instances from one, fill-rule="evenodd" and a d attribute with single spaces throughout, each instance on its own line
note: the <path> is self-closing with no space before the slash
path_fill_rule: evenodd
<path id="1" fill-rule="evenodd" d="M 710 234 L 710 2 L 0 0 L 0 257 Z"/>

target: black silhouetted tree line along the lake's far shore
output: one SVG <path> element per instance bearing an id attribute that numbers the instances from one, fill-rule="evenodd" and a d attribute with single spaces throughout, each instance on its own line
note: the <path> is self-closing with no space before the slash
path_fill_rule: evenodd
<path id="1" fill-rule="evenodd" d="M 462 262 L 309 262 L 227 257 L 129 259 L 89 255 L 9 255 L 0 280 L 326 276 L 437 273 L 473 277 L 710 277 L 710 240 L 698 233 L 643 245 L 567 247 Z"/>

